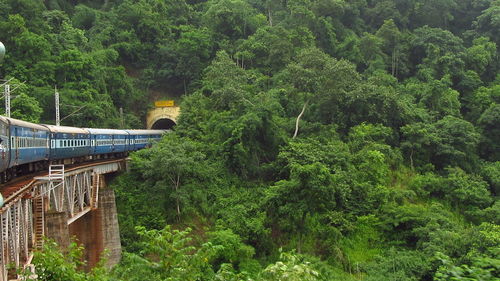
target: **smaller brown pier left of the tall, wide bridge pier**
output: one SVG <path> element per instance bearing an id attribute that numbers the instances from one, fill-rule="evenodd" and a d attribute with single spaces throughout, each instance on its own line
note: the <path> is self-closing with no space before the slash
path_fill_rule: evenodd
<path id="1" fill-rule="evenodd" d="M 45 236 L 54 240 L 64 251 L 69 247 L 68 215 L 66 212 L 45 213 Z"/>

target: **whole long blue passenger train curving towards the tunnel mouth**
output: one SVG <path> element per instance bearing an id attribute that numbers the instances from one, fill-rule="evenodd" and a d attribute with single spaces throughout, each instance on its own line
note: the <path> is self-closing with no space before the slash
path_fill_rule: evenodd
<path id="1" fill-rule="evenodd" d="M 0 180 L 4 183 L 50 164 L 124 157 L 151 146 L 165 132 L 44 125 L 0 116 Z"/>

